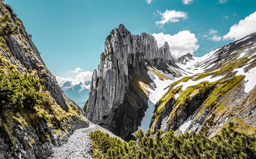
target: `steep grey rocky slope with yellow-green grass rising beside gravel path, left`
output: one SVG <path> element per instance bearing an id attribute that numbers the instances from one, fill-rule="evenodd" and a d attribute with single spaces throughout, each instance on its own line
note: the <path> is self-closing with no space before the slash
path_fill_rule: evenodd
<path id="1" fill-rule="evenodd" d="M 0 9 L 0 16 L 10 14 L 12 24 L 21 21 L 10 6 L 2 1 Z M 23 24 L 18 34 L 3 37 L 0 44 L 1 71 L 11 72 L 5 69 L 11 66 L 12 72 L 17 72 L 19 76 L 25 73 L 33 75 L 40 79 L 39 91 L 42 92 L 42 99 L 34 106 L 36 108 L 31 109 L 33 111 L 25 110 L 25 107 L 18 112 L 3 110 L 10 115 L 1 114 L 0 158 L 41 158 L 50 153 L 53 145 L 60 146 L 73 131 L 88 127 L 89 124 L 80 114 L 83 111 L 61 91 Z M 12 142 L 7 142 L 8 140 Z"/>

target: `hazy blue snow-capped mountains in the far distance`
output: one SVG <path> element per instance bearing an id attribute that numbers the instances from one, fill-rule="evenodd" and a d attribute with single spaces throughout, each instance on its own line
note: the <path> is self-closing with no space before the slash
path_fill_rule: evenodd
<path id="1" fill-rule="evenodd" d="M 60 88 L 63 90 L 65 95 L 74 100 L 79 107 L 83 108 L 86 100 L 88 99 L 90 92 L 91 81 L 87 82 L 60 82 Z"/>

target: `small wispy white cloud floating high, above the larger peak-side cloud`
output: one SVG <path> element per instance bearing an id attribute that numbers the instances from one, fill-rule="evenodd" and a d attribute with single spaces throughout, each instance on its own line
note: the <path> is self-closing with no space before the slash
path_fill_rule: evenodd
<path id="1" fill-rule="evenodd" d="M 175 11 L 175 10 L 166 10 L 165 12 L 159 12 L 157 11 L 162 17 L 161 21 L 156 21 L 155 24 L 159 25 L 160 28 L 163 27 L 165 23 L 176 23 L 179 22 L 180 19 L 184 20 L 188 17 L 188 13 L 181 12 L 181 11 Z"/>

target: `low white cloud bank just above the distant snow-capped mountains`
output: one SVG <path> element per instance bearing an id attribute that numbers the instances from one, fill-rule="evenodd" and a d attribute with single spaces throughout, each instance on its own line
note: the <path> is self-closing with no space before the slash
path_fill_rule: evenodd
<path id="1" fill-rule="evenodd" d="M 90 81 L 92 76 L 93 76 L 93 72 L 85 71 L 85 72 L 80 72 L 78 75 L 76 75 L 75 79 L 72 79 L 70 77 L 63 78 L 63 77 L 60 77 L 60 76 L 56 76 L 55 78 L 58 82 L 69 81 L 69 82 L 82 82 L 82 83 L 84 83 L 86 81 Z"/>

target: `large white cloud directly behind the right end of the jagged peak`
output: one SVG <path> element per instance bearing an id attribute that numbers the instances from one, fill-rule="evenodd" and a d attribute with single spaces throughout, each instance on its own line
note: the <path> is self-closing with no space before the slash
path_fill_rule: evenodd
<path id="1" fill-rule="evenodd" d="M 165 41 L 167 41 L 170 45 L 171 54 L 174 57 L 180 57 L 187 53 L 193 55 L 193 52 L 197 51 L 199 48 L 196 35 L 187 30 L 180 31 L 174 35 L 163 33 L 153 33 L 152 35 L 155 37 L 155 40 L 157 40 L 158 47 L 163 46 Z"/>

